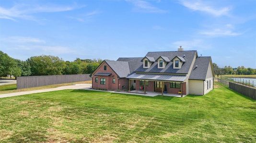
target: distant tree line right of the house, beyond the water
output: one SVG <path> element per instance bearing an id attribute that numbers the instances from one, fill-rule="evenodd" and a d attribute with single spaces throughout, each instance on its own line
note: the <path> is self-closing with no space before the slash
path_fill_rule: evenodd
<path id="1" fill-rule="evenodd" d="M 216 63 L 213 63 L 213 70 L 218 77 L 219 75 L 223 75 L 223 74 L 237 74 L 237 75 L 256 74 L 256 69 L 245 68 L 244 66 L 238 66 L 237 68 L 232 68 L 231 66 L 224 66 L 224 68 L 221 68 Z"/>

